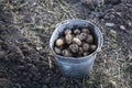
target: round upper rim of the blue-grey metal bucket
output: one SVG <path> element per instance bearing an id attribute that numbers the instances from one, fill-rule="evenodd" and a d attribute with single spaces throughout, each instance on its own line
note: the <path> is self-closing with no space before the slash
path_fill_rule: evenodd
<path id="1" fill-rule="evenodd" d="M 51 38 L 50 38 L 50 48 L 52 50 L 53 54 L 54 54 L 55 56 L 62 58 L 62 59 L 64 58 L 64 59 L 75 59 L 75 61 L 76 61 L 76 59 L 85 59 L 85 58 L 91 57 L 91 56 L 96 55 L 98 52 L 100 52 L 100 51 L 101 51 L 101 47 L 102 47 L 102 45 L 103 45 L 103 36 L 102 36 L 102 33 L 101 33 L 101 31 L 99 30 L 99 28 L 98 28 L 97 25 L 95 25 L 92 22 L 90 22 L 90 21 L 88 21 L 88 20 L 82 20 L 82 19 L 65 20 L 65 21 L 56 24 L 56 28 L 58 28 L 58 26 L 62 25 L 62 24 L 67 24 L 67 23 L 70 22 L 70 21 L 86 21 L 86 22 L 90 23 L 91 25 L 94 25 L 94 26 L 98 30 L 98 32 L 100 33 L 100 43 L 98 44 L 98 47 L 96 48 L 95 52 L 92 52 L 90 55 L 87 55 L 87 56 L 66 57 L 66 56 L 58 55 L 58 54 L 56 54 L 56 53 L 54 52 L 53 46 L 51 45 L 51 38 L 52 38 L 52 36 L 51 36 Z M 55 28 L 55 30 L 56 30 L 56 28 Z M 55 31 L 55 30 L 54 30 L 54 31 Z M 54 32 L 53 32 L 53 33 L 54 33 Z"/>

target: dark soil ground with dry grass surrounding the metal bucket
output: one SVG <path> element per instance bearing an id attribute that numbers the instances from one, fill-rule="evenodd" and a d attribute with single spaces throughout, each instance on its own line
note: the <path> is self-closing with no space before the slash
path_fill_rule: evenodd
<path id="1" fill-rule="evenodd" d="M 80 0 L 0 0 L 0 88 L 132 88 L 131 15 L 132 0 L 95 8 Z M 48 47 L 56 24 L 69 19 L 94 22 L 105 37 L 84 78 L 63 76 Z"/>

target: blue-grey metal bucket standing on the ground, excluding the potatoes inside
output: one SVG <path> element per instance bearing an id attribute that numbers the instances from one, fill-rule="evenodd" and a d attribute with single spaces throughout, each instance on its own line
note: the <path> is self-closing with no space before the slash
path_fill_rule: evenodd
<path id="1" fill-rule="evenodd" d="M 74 26 L 90 28 L 91 31 L 96 34 L 98 47 L 90 55 L 84 57 L 65 57 L 57 55 L 54 52 L 54 42 L 59 36 L 59 33 L 63 33 L 64 30 L 66 29 L 73 29 Z M 79 20 L 79 19 L 64 21 L 57 24 L 50 40 L 50 47 L 54 54 L 59 70 L 68 77 L 77 77 L 77 78 L 87 76 L 88 72 L 92 69 L 96 55 L 98 52 L 100 52 L 102 44 L 103 44 L 103 37 L 100 30 L 94 23 L 87 20 Z"/>

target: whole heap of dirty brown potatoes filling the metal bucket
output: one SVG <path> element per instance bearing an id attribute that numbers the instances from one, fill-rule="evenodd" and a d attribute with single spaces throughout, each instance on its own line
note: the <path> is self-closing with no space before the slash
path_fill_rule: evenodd
<path id="1" fill-rule="evenodd" d="M 95 34 L 89 29 L 66 29 L 55 41 L 56 54 L 66 57 L 82 57 L 97 48 Z"/>

